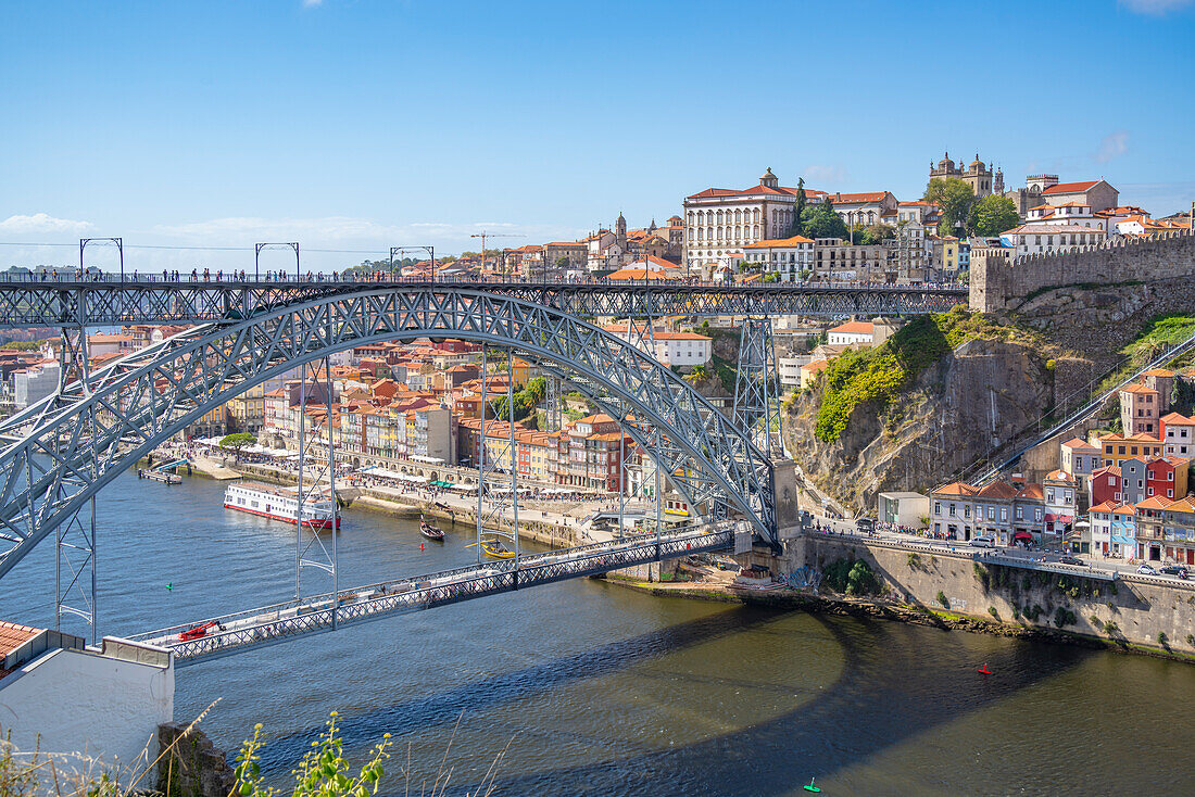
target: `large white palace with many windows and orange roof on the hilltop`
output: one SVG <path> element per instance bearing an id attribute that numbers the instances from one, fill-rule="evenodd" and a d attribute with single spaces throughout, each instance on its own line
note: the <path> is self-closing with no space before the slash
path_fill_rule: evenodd
<path id="1" fill-rule="evenodd" d="M 825 191 L 805 189 L 805 201 L 821 202 Z M 759 185 L 742 190 L 710 188 L 685 198 L 685 265 L 736 252 L 761 240 L 786 238 L 792 228 L 797 189 L 780 185 L 771 167 Z"/>

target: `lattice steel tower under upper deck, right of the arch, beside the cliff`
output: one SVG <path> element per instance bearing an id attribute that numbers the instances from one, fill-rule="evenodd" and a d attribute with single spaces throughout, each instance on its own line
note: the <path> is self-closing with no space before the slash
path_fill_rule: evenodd
<path id="1" fill-rule="evenodd" d="M 740 429 L 752 435 L 768 458 L 784 450 L 780 441 L 780 380 L 776 368 L 772 320 L 768 318 L 743 319 L 731 418 Z"/>

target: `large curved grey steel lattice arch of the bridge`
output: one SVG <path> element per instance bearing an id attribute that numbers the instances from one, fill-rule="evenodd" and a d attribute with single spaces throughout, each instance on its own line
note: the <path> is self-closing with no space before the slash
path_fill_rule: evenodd
<path id="1" fill-rule="evenodd" d="M 661 467 L 695 502 L 733 507 L 776 545 L 772 464 L 741 430 L 654 358 L 574 315 L 476 288 L 338 293 L 209 324 L 91 373 L 0 424 L 0 577 L 121 471 L 229 398 L 362 343 L 454 337 L 537 356 L 627 433 L 666 440 Z M 684 474 L 684 476 L 680 476 Z"/>

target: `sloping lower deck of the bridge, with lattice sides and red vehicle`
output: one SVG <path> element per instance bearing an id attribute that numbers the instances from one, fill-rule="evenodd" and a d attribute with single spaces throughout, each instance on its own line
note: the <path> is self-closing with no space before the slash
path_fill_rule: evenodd
<path id="1" fill-rule="evenodd" d="M 625 540 L 596 542 L 513 559 L 483 562 L 467 568 L 327 593 L 302 601 L 188 623 L 133 637 L 174 652 L 177 666 L 194 664 L 243 650 L 264 648 L 299 636 L 380 620 L 392 614 L 458 603 L 498 593 L 592 576 L 621 568 L 663 562 L 730 547 L 735 529 L 686 528 Z M 183 638 L 196 629 L 203 636 Z"/>

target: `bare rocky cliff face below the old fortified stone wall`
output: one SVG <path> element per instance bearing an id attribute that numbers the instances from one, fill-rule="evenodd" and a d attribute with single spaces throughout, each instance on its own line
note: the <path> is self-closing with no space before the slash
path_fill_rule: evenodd
<path id="1" fill-rule="evenodd" d="M 872 511 L 880 492 L 924 492 L 1036 421 L 1073 374 L 1090 368 L 1086 361 L 1052 360 L 1056 354 L 983 338 L 962 343 L 888 407 L 857 405 L 833 443 L 814 434 L 819 387 L 786 407 L 785 442 L 820 488 Z"/>

